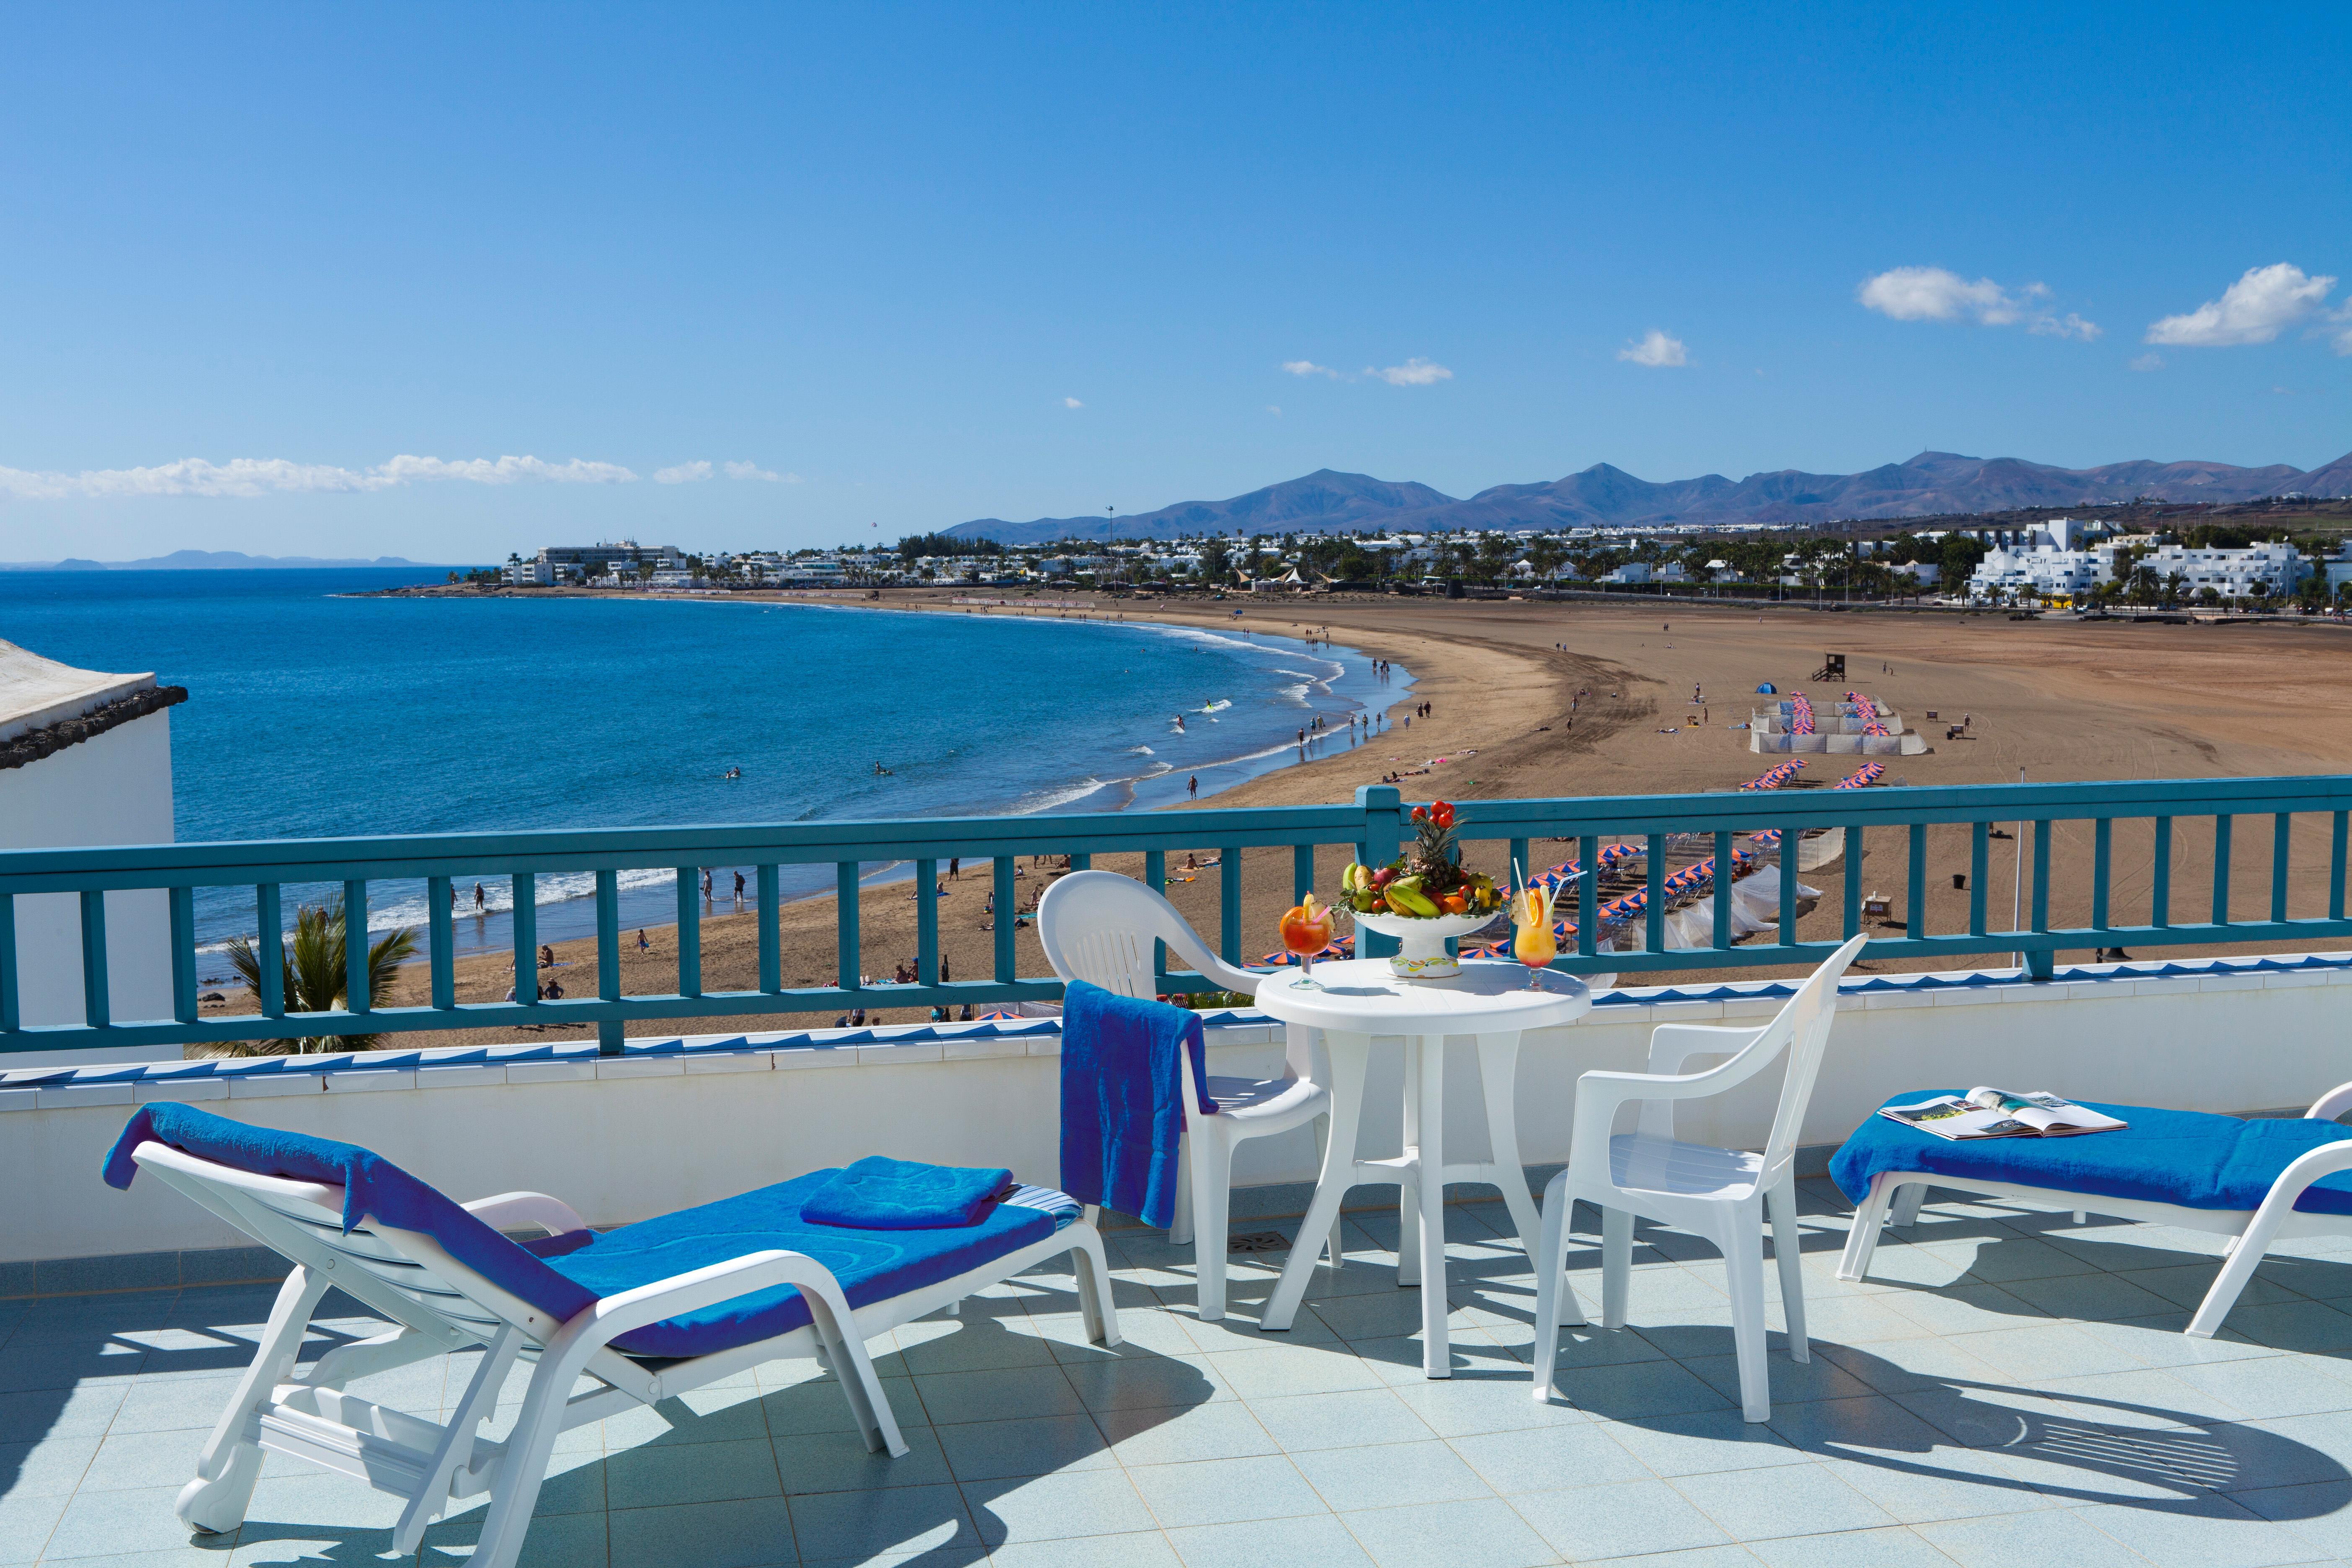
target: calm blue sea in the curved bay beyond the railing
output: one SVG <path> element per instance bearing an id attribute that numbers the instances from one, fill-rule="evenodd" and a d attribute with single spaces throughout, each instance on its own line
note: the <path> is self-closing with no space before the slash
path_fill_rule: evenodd
<path id="1" fill-rule="evenodd" d="M 1294 762 L 1310 715 L 1343 724 L 1409 684 L 1247 621 L 341 597 L 419 576 L 0 571 L 0 639 L 188 686 L 183 842 L 1155 806 L 1195 773 L 1211 795 Z M 790 891 L 818 886 L 830 872 Z M 588 891 L 541 879 L 541 931 L 593 931 Z M 468 947 L 508 940 L 506 884 L 485 903 L 475 919 L 468 884 Z M 675 907 L 668 872 L 623 877 L 626 922 Z M 372 889 L 372 926 L 421 922 L 421 884 Z M 202 893 L 198 929 L 207 947 L 252 931 L 252 896 Z"/>

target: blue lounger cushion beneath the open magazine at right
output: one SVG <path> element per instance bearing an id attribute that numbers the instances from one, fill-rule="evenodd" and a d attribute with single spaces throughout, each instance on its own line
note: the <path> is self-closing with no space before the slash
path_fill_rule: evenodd
<path id="1" fill-rule="evenodd" d="M 1922 1088 L 1889 1105 L 1917 1105 L 1957 1088 Z M 2216 1117 L 2194 1110 L 2103 1105 L 2091 1110 L 2131 1126 L 2079 1138 L 1973 1138 L 1955 1143 L 1915 1126 L 1870 1117 L 1830 1157 L 1830 1178 L 1856 1204 L 1882 1171 L 1924 1171 L 1955 1180 L 1980 1178 L 2020 1187 L 2051 1187 L 2180 1208 L 2260 1208 L 2270 1185 L 2300 1154 L 2352 1138 L 2336 1121 Z M 2296 1201 L 2303 1213 L 2352 1213 L 2352 1173 L 2310 1185 Z"/>

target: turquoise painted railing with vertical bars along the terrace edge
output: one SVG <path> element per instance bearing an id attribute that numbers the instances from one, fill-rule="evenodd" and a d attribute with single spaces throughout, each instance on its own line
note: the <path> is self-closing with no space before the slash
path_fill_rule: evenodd
<path id="1" fill-rule="evenodd" d="M 1014 971 L 1016 863 L 1021 856 L 1070 856 L 1084 867 L 1094 856 L 1143 856 L 1143 877 L 1162 886 L 1169 851 L 1218 851 L 1218 952 L 1244 961 L 1242 851 L 1291 849 L 1294 891 L 1315 879 L 1319 846 L 1348 846 L 1367 863 L 1392 858 L 1409 837 L 1406 802 L 1399 790 L 1369 785 L 1352 804 L 1275 806 L 1232 811 L 1138 811 L 1124 816 L 993 816 L 875 823 L 781 823 L 736 827 L 607 827 L 586 832 L 480 832 L 414 835 L 381 839 L 268 839 L 252 844 L 151 844 L 101 849 L 26 849 L 0 853 L 0 1051 L 89 1048 L 136 1044 L 195 1044 L 292 1039 L 322 1034 L 381 1034 L 405 1030 L 461 1030 L 513 1025 L 595 1025 L 607 1051 L 619 1051 L 628 1023 L 656 1023 L 755 1013 L 833 1013 L 851 1006 L 960 1006 L 1054 999 L 1051 976 Z M 1534 865 L 1531 851 L 1564 839 L 1581 867 L 1573 898 L 1562 912 L 1578 924 L 1573 954 L 1557 969 L 1571 973 L 1672 973 L 1693 969 L 1783 966 L 1799 969 L 1835 950 L 1835 940 L 1797 938 L 1799 835 L 1844 832 L 1846 936 L 1863 926 L 1860 865 L 1865 835 L 1905 835 L 1907 900 L 1912 922 L 1903 936 L 1872 943 L 1872 959 L 1964 959 L 2020 952 L 2034 976 L 2049 976 L 2063 947 L 2213 947 L 2223 943 L 2312 943 L 2352 936 L 2345 919 L 2345 820 L 2352 811 L 2352 776 L 2314 778 L 2183 778 L 2140 783 L 2058 785 L 1962 785 L 1882 788 L 1809 795 L 1632 795 L 1597 799 L 1491 799 L 1461 802 L 1458 837 L 1501 842 L 1515 865 Z M 2260 914 L 2232 914 L 2232 844 L 2237 818 L 2270 818 L 2270 900 Z M 2298 856 L 2293 818 L 2319 816 L 2326 830 L 2326 914 L 2288 914 L 2288 872 Z M 2147 919 L 2117 924 L 2110 884 L 2114 872 L 2114 823 L 2152 820 Z M 2206 919 L 2176 919 L 2173 846 L 2176 823 L 2211 820 L 2211 903 Z M 1926 835 L 1931 825 L 1966 823 L 1969 919 L 1964 931 L 1924 931 Z M 2091 924 L 2051 926 L 2051 837 L 2058 823 L 2091 823 Z M 2023 929 L 1994 929 L 1987 910 L 1990 837 L 2002 825 L 2023 825 L 2032 839 L 2030 867 L 2020 856 L 2020 889 L 2027 900 Z M 1731 940 L 1731 882 L 1712 889 L 1712 943 L 1665 945 L 1665 844 L 1698 835 L 1712 839 L 1717 865 L 1731 863 L 1736 835 L 1780 830 L 1780 924 L 1766 940 Z M 2201 837 L 2201 835 L 2199 835 Z M 2303 842 L 2317 832 L 2305 835 Z M 1599 844 L 1639 839 L 1646 856 L 1649 905 L 1637 919 L 1639 952 L 1602 952 Z M 2310 853 L 2305 849 L 2303 853 Z M 983 980 L 938 978 L 938 900 L 934 882 L 948 858 L 985 860 L 995 886 L 995 964 Z M 1545 851 L 1543 860 L 1552 853 Z M 913 863 L 917 900 L 917 980 L 870 985 L 858 973 L 858 893 L 868 865 Z M 760 987 L 750 992 L 703 990 L 701 900 L 696 867 L 757 867 Z M 837 884 L 837 978 L 833 985 L 786 987 L 779 910 L 786 865 L 833 865 Z M 621 992 L 619 875 L 623 870 L 675 867 L 677 872 L 677 990 L 663 994 Z M 557 872 L 595 875 L 597 994 L 515 1001 L 456 1001 L 452 879 L 510 877 L 515 973 L 534 976 L 536 905 L 534 877 Z M 365 945 L 350 943 L 348 1004 L 325 1013 L 289 1013 L 278 945 L 259 943 L 259 1016 L 200 1018 L 195 973 L 195 889 L 254 889 L 259 931 L 282 929 L 282 889 L 339 884 L 343 907 L 365 929 L 372 882 L 428 886 L 426 1006 L 374 1006 L 367 994 Z M 115 1020 L 106 971 L 106 893 L 160 889 L 169 903 L 172 1018 Z M 24 1025 L 19 1020 L 16 900 L 33 893 L 80 898 L 82 1009 L 75 1025 Z M 2133 893 L 2138 898 L 2138 893 Z M 1392 950 L 1364 933 L 1367 957 Z M 1167 976 L 1171 992 L 1209 990 L 1197 973 Z M 529 990 L 529 987 L 517 987 Z"/>

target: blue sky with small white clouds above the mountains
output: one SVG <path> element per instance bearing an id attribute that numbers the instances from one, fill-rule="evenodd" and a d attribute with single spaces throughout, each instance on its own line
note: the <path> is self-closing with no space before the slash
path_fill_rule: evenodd
<path id="1" fill-rule="evenodd" d="M 2352 12 L 1780 9 L 16 7 L 0 559 L 2352 449 Z"/>

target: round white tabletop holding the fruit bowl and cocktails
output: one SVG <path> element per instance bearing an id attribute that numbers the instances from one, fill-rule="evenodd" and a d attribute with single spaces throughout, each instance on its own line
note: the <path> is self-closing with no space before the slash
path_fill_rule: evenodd
<path id="1" fill-rule="evenodd" d="M 1284 969 L 1258 985 L 1258 1009 L 1282 1023 L 1345 1034 L 1498 1034 L 1576 1023 L 1592 992 L 1576 976 L 1543 971 L 1543 990 L 1526 990 L 1526 969 L 1496 959 L 1463 959 L 1446 980 L 1399 980 L 1388 959 L 1327 959 L 1305 976 Z"/>

